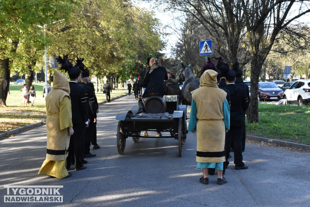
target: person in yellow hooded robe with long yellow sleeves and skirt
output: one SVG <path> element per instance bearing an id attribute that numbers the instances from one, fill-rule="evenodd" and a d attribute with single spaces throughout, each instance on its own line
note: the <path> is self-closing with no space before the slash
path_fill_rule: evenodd
<path id="1" fill-rule="evenodd" d="M 54 70 L 53 89 L 46 96 L 47 154 L 38 174 L 69 178 L 65 168 L 70 136 L 73 134 L 68 78 Z"/>

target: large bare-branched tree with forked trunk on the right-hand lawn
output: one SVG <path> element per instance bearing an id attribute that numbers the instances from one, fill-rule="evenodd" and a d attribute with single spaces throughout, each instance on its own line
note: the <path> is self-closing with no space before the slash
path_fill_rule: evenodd
<path id="1" fill-rule="evenodd" d="M 262 66 L 276 40 L 296 34 L 292 27 L 295 21 L 310 12 L 308 1 L 242 1 L 239 5 L 244 12 L 246 31 L 251 54 L 251 97 L 248 110 L 248 122 L 259 122 L 258 116 L 258 81 Z M 294 10 L 294 8 L 297 8 Z M 291 12 L 295 13 L 291 15 Z M 298 25 L 300 28 L 302 24 Z M 290 35 L 292 37 L 293 35 Z"/>

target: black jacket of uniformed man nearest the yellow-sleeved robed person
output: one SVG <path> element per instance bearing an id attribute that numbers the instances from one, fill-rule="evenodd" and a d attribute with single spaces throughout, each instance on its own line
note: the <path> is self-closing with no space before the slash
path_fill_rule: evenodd
<path id="1" fill-rule="evenodd" d="M 85 125 L 88 120 L 87 99 L 84 88 L 76 82 L 69 82 L 72 124 Z"/>

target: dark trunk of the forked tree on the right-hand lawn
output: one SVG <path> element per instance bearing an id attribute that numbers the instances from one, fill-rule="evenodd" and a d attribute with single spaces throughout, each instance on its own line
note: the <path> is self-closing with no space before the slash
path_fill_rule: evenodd
<path id="1" fill-rule="evenodd" d="M 259 74 L 263 66 L 263 60 L 260 56 L 252 56 L 251 60 L 251 96 L 250 107 L 247 113 L 248 123 L 259 123 L 258 116 L 258 82 Z"/>

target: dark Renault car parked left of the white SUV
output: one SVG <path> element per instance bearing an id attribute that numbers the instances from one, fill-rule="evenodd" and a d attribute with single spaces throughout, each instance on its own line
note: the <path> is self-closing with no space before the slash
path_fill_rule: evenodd
<path id="1" fill-rule="evenodd" d="M 279 88 L 276 83 L 273 82 L 259 82 L 258 83 L 258 98 L 259 101 L 262 99 L 273 100 L 282 99 L 283 91 Z"/>

